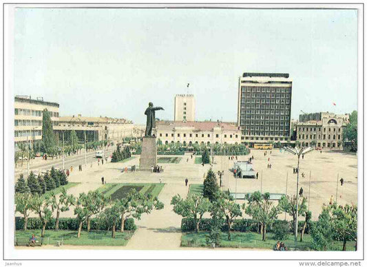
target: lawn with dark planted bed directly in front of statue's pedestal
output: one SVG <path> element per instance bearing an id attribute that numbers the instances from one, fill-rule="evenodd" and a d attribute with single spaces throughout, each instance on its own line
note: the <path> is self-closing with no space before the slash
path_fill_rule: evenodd
<path id="1" fill-rule="evenodd" d="M 144 193 L 145 195 L 151 193 L 153 197 L 158 197 L 163 186 L 165 186 L 165 184 L 104 184 L 97 190 L 107 197 L 110 196 L 112 200 L 116 200 L 125 197 L 132 189 Z"/>

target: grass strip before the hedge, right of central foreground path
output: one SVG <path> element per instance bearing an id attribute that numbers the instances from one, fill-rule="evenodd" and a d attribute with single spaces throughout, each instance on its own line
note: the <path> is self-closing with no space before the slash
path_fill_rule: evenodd
<path id="1" fill-rule="evenodd" d="M 181 246 L 191 247 L 204 247 L 208 246 L 207 239 L 209 232 L 199 233 L 182 233 Z M 228 240 L 227 232 L 222 232 L 220 235 L 220 247 L 223 248 L 262 248 L 273 249 L 273 246 L 278 240 L 273 239 L 273 235 L 268 233 L 266 235 L 267 240 L 262 241 L 262 235 L 258 233 L 242 233 L 231 232 L 231 241 Z M 290 247 L 291 250 L 295 248 L 295 242 L 293 235 L 289 235 L 288 239 L 283 241 L 286 247 Z M 331 250 L 342 250 L 342 242 L 334 242 Z M 299 250 L 313 250 L 311 235 L 304 235 L 303 242 L 297 242 L 297 248 Z M 355 242 L 347 242 L 346 250 L 355 250 Z"/>

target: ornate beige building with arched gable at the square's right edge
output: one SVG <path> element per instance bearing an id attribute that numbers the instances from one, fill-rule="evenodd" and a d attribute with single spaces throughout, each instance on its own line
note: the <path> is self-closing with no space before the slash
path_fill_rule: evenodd
<path id="1" fill-rule="evenodd" d="M 300 115 L 300 121 L 297 122 L 297 141 L 300 146 L 342 149 L 343 130 L 348 122 L 349 114 L 318 112 Z"/>

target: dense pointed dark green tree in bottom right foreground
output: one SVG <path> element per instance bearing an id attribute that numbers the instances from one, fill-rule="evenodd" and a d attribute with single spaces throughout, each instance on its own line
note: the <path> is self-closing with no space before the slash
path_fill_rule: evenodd
<path id="1" fill-rule="evenodd" d="M 327 250 L 328 246 L 333 241 L 333 222 L 331 220 L 330 206 L 323 206 L 322 213 L 319 215 L 319 220 L 312 224 L 311 237 L 313 246 L 317 250 Z"/>

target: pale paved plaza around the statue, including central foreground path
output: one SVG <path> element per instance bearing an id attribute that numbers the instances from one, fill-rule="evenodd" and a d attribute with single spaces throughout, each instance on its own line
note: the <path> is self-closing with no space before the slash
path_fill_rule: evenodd
<path id="1" fill-rule="evenodd" d="M 296 167 L 297 157 L 288 152 L 280 153 L 279 149 L 273 149 L 271 155 L 264 156 L 264 151 L 251 150 L 247 156 L 239 156 L 238 160 L 247 160 L 250 156 L 254 157 L 253 168 L 259 172 L 258 180 L 255 179 L 236 179 L 229 171 L 233 167 L 235 160 L 228 160 L 228 157 L 216 156 L 214 158 L 213 171 L 227 168 L 222 184 L 228 187 L 231 192 L 251 193 L 262 190 L 263 193 L 286 193 L 293 195 L 296 192 L 297 175 L 293 174 L 293 167 Z M 80 182 L 72 187 L 67 193 L 78 196 L 79 193 L 96 190 L 101 186 L 101 177 L 108 183 L 165 183 L 158 198 L 165 204 L 165 209 L 152 211 L 144 214 L 141 220 L 136 220 L 138 230 L 129 240 L 125 247 L 114 247 L 113 249 L 178 249 L 180 248 L 180 224 L 181 219 L 172 211 L 170 204 L 171 197 L 177 193 L 186 197 L 189 186 L 185 186 L 185 179 L 189 179 L 189 184 L 202 184 L 204 175 L 210 166 L 206 164 L 195 164 L 191 156 L 182 156 L 178 164 L 160 164 L 164 171 L 162 173 L 150 172 L 128 172 L 122 173 L 125 167 L 131 167 L 139 163 L 139 156 L 133 156 L 127 162 L 117 162 L 107 164 L 96 164 L 92 168 L 87 166 L 83 171 L 74 169 L 70 174 L 70 182 Z M 159 157 L 159 156 L 158 156 Z M 169 156 L 165 156 L 169 157 Z M 174 156 L 177 157 L 177 156 Z M 268 161 L 269 158 L 269 161 Z M 188 160 L 187 160 L 188 159 Z M 271 169 L 267 168 L 270 163 Z M 310 186 L 311 171 L 311 188 Z M 286 177 L 288 173 L 288 186 Z M 306 177 L 302 178 L 301 173 Z M 311 195 L 310 210 L 313 212 L 313 220 L 322 211 L 322 204 L 328 204 L 331 195 L 334 197 L 337 190 L 337 175 L 339 179 L 344 178 L 344 185 L 338 186 L 338 204 L 357 204 L 357 156 L 334 152 L 334 151 L 312 151 L 300 160 L 300 187 L 304 189 L 304 196 Z M 236 186 L 237 184 L 237 186 Z M 309 191 L 309 189 L 311 189 Z M 242 203 L 238 200 L 238 203 Z M 284 218 L 280 215 L 280 219 Z M 74 217 L 73 209 L 61 213 L 61 217 Z M 287 219 L 289 215 L 287 215 Z M 303 218 L 302 218 L 303 219 Z M 301 220 L 302 220 L 301 219 Z M 65 246 L 71 248 L 72 246 Z M 74 247 L 80 248 L 80 247 Z M 93 247 L 94 248 L 94 247 Z"/>

